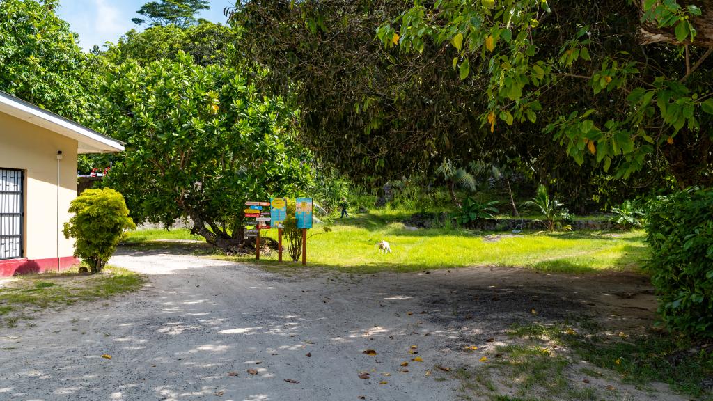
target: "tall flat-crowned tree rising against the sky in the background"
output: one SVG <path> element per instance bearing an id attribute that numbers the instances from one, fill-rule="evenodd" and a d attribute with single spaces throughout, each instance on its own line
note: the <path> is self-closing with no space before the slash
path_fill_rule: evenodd
<path id="1" fill-rule="evenodd" d="M 150 1 L 136 11 L 145 16 L 145 19 L 131 19 L 134 24 L 148 26 L 175 25 L 187 28 L 198 22 L 196 14 L 202 10 L 210 9 L 207 0 L 161 0 Z"/>

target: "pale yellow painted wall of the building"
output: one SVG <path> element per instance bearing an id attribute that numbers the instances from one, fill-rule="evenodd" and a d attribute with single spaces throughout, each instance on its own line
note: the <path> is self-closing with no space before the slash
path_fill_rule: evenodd
<path id="1" fill-rule="evenodd" d="M 71 218 L 67 212 L 69 203 L 77 196 L 77 145 L 71 138 L 0 113 L 0 168 L 25 171 L 25 258 L 64 258 L 73 254 L 73 241 L 64 238 L 61 230 Z M 62 151 L 63 156 L 59 161 L 59 199 L 57 151 Z"/>

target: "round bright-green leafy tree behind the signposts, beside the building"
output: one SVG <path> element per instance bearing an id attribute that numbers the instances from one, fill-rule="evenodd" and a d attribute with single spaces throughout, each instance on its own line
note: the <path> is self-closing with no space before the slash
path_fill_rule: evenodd
<path id="1" fill-rule="evenodd" d="M 137 223 L 190 218 L 194 233 L 235 251 L 246 200 L 297 193 L 308 181 L 289 131 L 293 113 L 240 71 L 198 66 L 180 52 L 175 61 L 123 64 L 101 94 L 103 121 L 127 143 L 108 186 Z"/>

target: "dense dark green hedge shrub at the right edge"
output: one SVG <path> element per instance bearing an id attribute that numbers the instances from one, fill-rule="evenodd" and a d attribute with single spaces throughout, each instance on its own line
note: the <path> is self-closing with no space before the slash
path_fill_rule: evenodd
<path id="1" fill-rule="evenodd" d="M 672 330 L 713 337 L 713 190 L 660 196 L 646 223 L 652 260 L 645 269 Z"/>

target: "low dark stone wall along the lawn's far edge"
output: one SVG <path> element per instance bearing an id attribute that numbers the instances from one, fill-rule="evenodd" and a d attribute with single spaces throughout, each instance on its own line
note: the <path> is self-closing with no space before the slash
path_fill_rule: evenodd
<path id="1" fill-rule="evenodd" d="M 452 223 L 455 225 L 454 218 Z M 448 220 L 448 214 L 442 213 L 414 213 L 404 220 L 404 224 L 416 228 L 443 227 Z M 572 230 L 617 230 L 619 225 L 610 220 L 574 220 L 570 225 Z M 520 218 L 488 218 L 478 222 L 469 223 L 467 228 L 481 231 L 512 231 L 512 230 L 544 230 L 545 224 L 540 220 Z"/>

